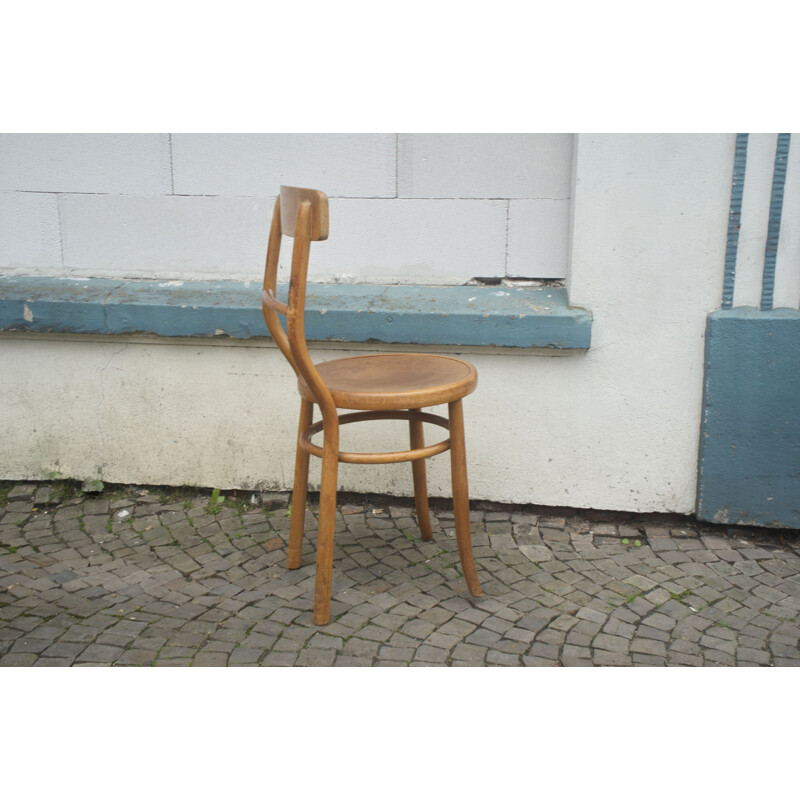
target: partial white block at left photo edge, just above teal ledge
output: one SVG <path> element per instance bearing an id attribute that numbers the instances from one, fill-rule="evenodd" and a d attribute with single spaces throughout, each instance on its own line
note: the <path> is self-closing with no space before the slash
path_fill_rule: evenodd
<path id="1" fill-rule="evenodd" d="M 61 267 L 57 198 L 35 192 L 0 192 L 0 269 Z"/>

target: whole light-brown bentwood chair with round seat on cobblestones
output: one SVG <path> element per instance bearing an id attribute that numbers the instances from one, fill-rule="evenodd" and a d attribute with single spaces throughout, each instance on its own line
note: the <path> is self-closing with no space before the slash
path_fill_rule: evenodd
<path id="1" fill-rule="evenodd" d="M 275 296 L 278 255 L 284 235 L 294 238 L 288 303 Z M 458 554 L 470 594 L 480 597 L 483 592 L 475 571 L 470 541 L 461 407 L 461 399 L 475 389 L 478 373 L 466 361 L 428 353 L 383 353 L 314 364 L 305 339 L 306 275 L 311 242 L 327 238 L 328 198 L 314 189 L 281 186 L 269 234 L 262 310 L 270 335 L 297 374 L 300 392 L 288 567 L 297 569 L 300 566 L 310 455 L 322 458 L 314 623 L 326 625 L 330 618 L 339 462 L 390 464 L 410 461 L 417 521 L 422 538 L 429 541 L 433 538 L 433 531 L 428 512 L 425 459 L 449 449 Z M 286 315 L 286 333 L 278 319 L 279 313 Z M 444 403 L 448 404 L 449 419 L 422 411 L 425 407 Z M 314 405 L 320 407 L 321 422 L 313 423 Z M 355 413 L 340 416 L 339 409 Z M 396 453 L 347 453 L 339 450 L 340 425 L 376 419 L 408 420 L 411 449 Z M 448 429 L 450 438 L 426 445 L 422 430 L 424 422 Z M 321 447 L 311 441 L 319 432 L 323 434 Z"/>

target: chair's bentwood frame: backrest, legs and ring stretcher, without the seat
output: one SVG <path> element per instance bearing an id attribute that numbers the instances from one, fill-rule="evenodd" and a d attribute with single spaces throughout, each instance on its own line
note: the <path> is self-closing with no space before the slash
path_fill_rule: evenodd
<path id="1" fill-rule="evenodd" d="M 283 235 L 294 238 L 292 250 L 289 298 L 283 303 L 275 296 L 278 259 Z M 320 484 L 320 511 L 317 531 L 317 569 L 314 592 L 314 622 L 325 625 L 330 618 L 330 594 L 333 567 L 333 540 L 335 527 L 337 475 L 340 462 L 352 464 L 390 464 L 410 461 L 414 479 L 414 497 L 422 539 L 433 539 L 428 509 L 424 460 L 430 456 L 450 450 L 453 481 L 453 509 L 456 523 L 456 539 L 467 588 L 475 597 L 482 595 L 480 582 L 472 558 L 469 534 L 469 496 L 467 489 L 466 450 L 464 442 L 464 420 L 461 400 L 449 401 L 444 397 L 439 402 L 448 402 L 449 418 L 429 414 L 420 408 L 408 410 L 374 410 L 339 415 L 333 397 L 317 371 L 308 353 L 305 339 L 305 297 L 308 259 L 312 241 L 328 237 L 328 198 L 312 189 L 281 186 L 275 200 L 275 210 L 270 227 L 267 259 L 262 287 L 262 312 L 273 341 L 291 365 L 299 380 L 305 382 L 314 402 L 301 396 L 298 423 L 297 450 L 295 455 L 294 490 L 292 494 L 291 527 L 287 566 L 300 566 L 303 546 L 303 528 L 306 497 L 308 492 L 309 456 L 322 459 Z M 278 315 L 286 317 L 286 331 Z M 313 407 L 316 403 L 322 412 L 322 421 L 313 422 Z M 436 405 L 437 402 L 431 403 Z M 377 419 L 403 419 L 409 424 L 411 449 L 391 453 L 349 453 L 339 450 L 339 426 L 352 422 Z M 425 445 L 423 423 L 445 428 L 450 438 L 433 445 Z M 322 447 L 315 445 L 311 437 L 323 432 Z"/>

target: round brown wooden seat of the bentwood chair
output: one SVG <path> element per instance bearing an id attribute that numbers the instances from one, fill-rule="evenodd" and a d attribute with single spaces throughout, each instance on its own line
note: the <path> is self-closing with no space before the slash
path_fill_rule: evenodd
<path id="1" fill-rule="evenodd" d="M 391 410 L 451 403 L 474 391 L 478 372 L 458 358 L 428 353 L 352 356 L 315 364 L 337 408 Z M 300 395 L 315 402 L 306 382 Z"/>

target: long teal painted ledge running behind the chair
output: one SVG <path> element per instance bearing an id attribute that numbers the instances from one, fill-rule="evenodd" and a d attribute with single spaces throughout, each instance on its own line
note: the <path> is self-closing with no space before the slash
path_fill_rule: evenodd
<path id="1" fill-rule="evenodd" d="M 306 302 L 311 341 L 585 350 L 591 324 L 554 287 L 309 284 Z M 29 276 L 0 277 L 0 330 L 268 336 L 256 282 Z"/>

